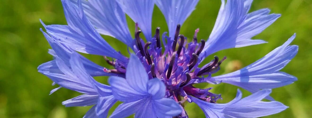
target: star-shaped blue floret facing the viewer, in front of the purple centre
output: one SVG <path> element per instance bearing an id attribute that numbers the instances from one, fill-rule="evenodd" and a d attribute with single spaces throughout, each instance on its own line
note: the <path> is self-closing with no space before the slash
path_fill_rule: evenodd
<path id="1" fill-rule="evenodd" d="M 166 86 L 161 80 L 148 80 L 142 62 L 134 54 L 131 54 L 127 65 L 126 79 L 112 76 L 109 83 L 114 97 L 124 101 L 110 116 L 112 118 L 126 117 L 133 113 L 136 118 L 156 118 L 177 116 L 182 112 L 176 101 L 163 98 Z"/>

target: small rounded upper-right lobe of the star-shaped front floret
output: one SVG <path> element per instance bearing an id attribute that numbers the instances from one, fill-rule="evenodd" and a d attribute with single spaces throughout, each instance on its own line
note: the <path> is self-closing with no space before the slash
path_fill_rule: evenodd
<path id="1" fill-rule="evenodd" d="M 152 94 L 154 100 L 158 100 L 165 96 L 166 86 L 158 78 L 150 79 L 147 83 L 147 91 Z"/>

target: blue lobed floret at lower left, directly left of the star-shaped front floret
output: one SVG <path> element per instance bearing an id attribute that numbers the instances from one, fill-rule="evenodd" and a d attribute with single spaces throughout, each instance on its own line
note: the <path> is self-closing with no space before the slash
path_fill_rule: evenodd
<path id="1" fill-rule="evenodd" d="M 80 54 L 73 52 L 71 54 L 69 64 L 59 58 L 56 58 L 56 65 L 61 73 L 49 73 L 42 72 L 46 76 L 50 77 L 53 82 L 61 87 L 71 89 L 77 92 L 84 93 L 78 97 L 63 101 L 65 106 L 93 106 L 84 117 L 95 117 L 95 109 L 101 107 L 97 112 L 100 116 L 107 116 L 107 112 L 110 107 L 117 101 L 112 95 L 111 87 L 96 82 L 84 68 L 84 64 L 81 61 Z M 97 106 L 100 103 L 102 106 Z M 105 106 L 103 106 L 103 103 Z"/>

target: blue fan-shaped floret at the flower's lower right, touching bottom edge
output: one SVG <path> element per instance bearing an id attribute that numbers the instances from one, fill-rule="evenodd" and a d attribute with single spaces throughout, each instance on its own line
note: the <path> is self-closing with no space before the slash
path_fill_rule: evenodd
<path id="1" fill-rule="evenodd" d="M 279 113 L 288 108 L 287 106 L 277 101 L 261 101 L 270 93 L 271 90 L 264 89 L 241 99 L 241 91 L 237 90 L 236 97 L 226 104 L 210 103 L 199 100 L 195 97 L 190 98 L 202 109 L 202 111 L 204 111 L 207 118 L 255 118 Z"/>

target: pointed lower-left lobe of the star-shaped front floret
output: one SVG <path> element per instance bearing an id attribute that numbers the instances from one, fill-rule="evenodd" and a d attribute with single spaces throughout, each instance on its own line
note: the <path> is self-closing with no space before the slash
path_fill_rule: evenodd
<path id="1" fill-rule="evenodd" d="M 124 118 L 127 116 L 130 116 L 131 114 L 134 114 L 138 109 L 142 106 L 143 101 L 145 99 L 134 101 L 134 102 L 124 102 L 120 104 L 112 115 L 110 115 L 110 118 Z"/>

